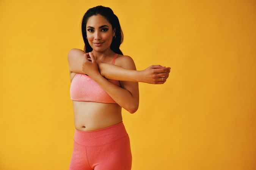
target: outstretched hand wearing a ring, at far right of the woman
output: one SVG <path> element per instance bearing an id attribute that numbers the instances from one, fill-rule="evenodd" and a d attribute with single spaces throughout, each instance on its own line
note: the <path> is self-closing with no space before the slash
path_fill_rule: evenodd
<path id="1" fill-rule="evenodd" d="M 141 71 L 142 80 L 141 82 L 149 84 L 163 84 L 169 77 L 171 67 L 161 66 L 161 65 L 151 65 L 145 70 Z M 163 77 L 163 80 L 162 80 Z"/>

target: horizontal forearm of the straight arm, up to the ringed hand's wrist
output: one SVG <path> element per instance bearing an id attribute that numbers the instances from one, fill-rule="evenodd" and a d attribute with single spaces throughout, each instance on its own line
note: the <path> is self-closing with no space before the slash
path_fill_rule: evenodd
<path id="1" fill-rule="evenodd" d="M 140 82 L 141 81 L 141 71 L 129 70 L 123 67 L 108 64 L 108 63 L 98 63 L 99 71 L 102 76 L 107 79 L 130 81 L 130 82 Z"/>

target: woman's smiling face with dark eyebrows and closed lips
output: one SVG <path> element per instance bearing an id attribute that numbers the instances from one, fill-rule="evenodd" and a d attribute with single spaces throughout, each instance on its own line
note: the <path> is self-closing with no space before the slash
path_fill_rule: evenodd
<path id="1" fill-rule="evenodd" d="M 110 48 L 115 29 L 112 31 L 112 25 L 102 16 L 93 15 L 86 23 L 86 34 L 88 42 L 95 51 L 105 51 Z M 99 45 L 95 43 L 101 43 Z"/>

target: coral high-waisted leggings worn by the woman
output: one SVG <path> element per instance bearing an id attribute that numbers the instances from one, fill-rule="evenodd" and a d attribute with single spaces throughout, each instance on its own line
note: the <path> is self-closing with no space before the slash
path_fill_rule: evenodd
<path id="1" fill-rule="evenodd" d="M 99 130 L 75 128 L 69 170 L 131 170 L 130 138 L 123 121 Z"/>

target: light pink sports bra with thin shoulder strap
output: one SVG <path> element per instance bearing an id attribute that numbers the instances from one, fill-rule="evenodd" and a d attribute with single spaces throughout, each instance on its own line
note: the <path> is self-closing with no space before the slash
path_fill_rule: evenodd
<path id="1" fill-rule="evenodd" d="M 118 54 L 116 53 L 112 64 L 115 63 Z M 107 79 L 109 82 L 117 86 L 121 86 L 119 80 Z M 116 103 L 107 92 L 101 88 L 101 86 L 91 79 L 91 77 L 86 74 L 75 74 L 72 79 L 70 86 L 70 96 L 71 100 L 76 101 L 88 101 L 88 102 L 101 102 L 101 103 Z"/>

